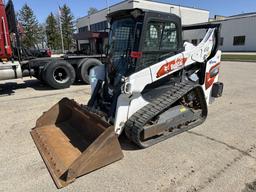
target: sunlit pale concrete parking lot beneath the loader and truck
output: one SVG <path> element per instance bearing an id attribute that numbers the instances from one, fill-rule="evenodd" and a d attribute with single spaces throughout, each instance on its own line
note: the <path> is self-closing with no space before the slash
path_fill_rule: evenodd
<path id="1" fill-rule="evenodd" d="M 256 191 L 255 74 L 256 63 L 223 62 L 224 94 L 204 124 L 145 150 L 122 138 L 123 160 L 62 190 L 30 130 L 63 97 L 86 103 L 89 86 L 51 90 L 35 79 L 0 82 L 0 191 Z"/>

